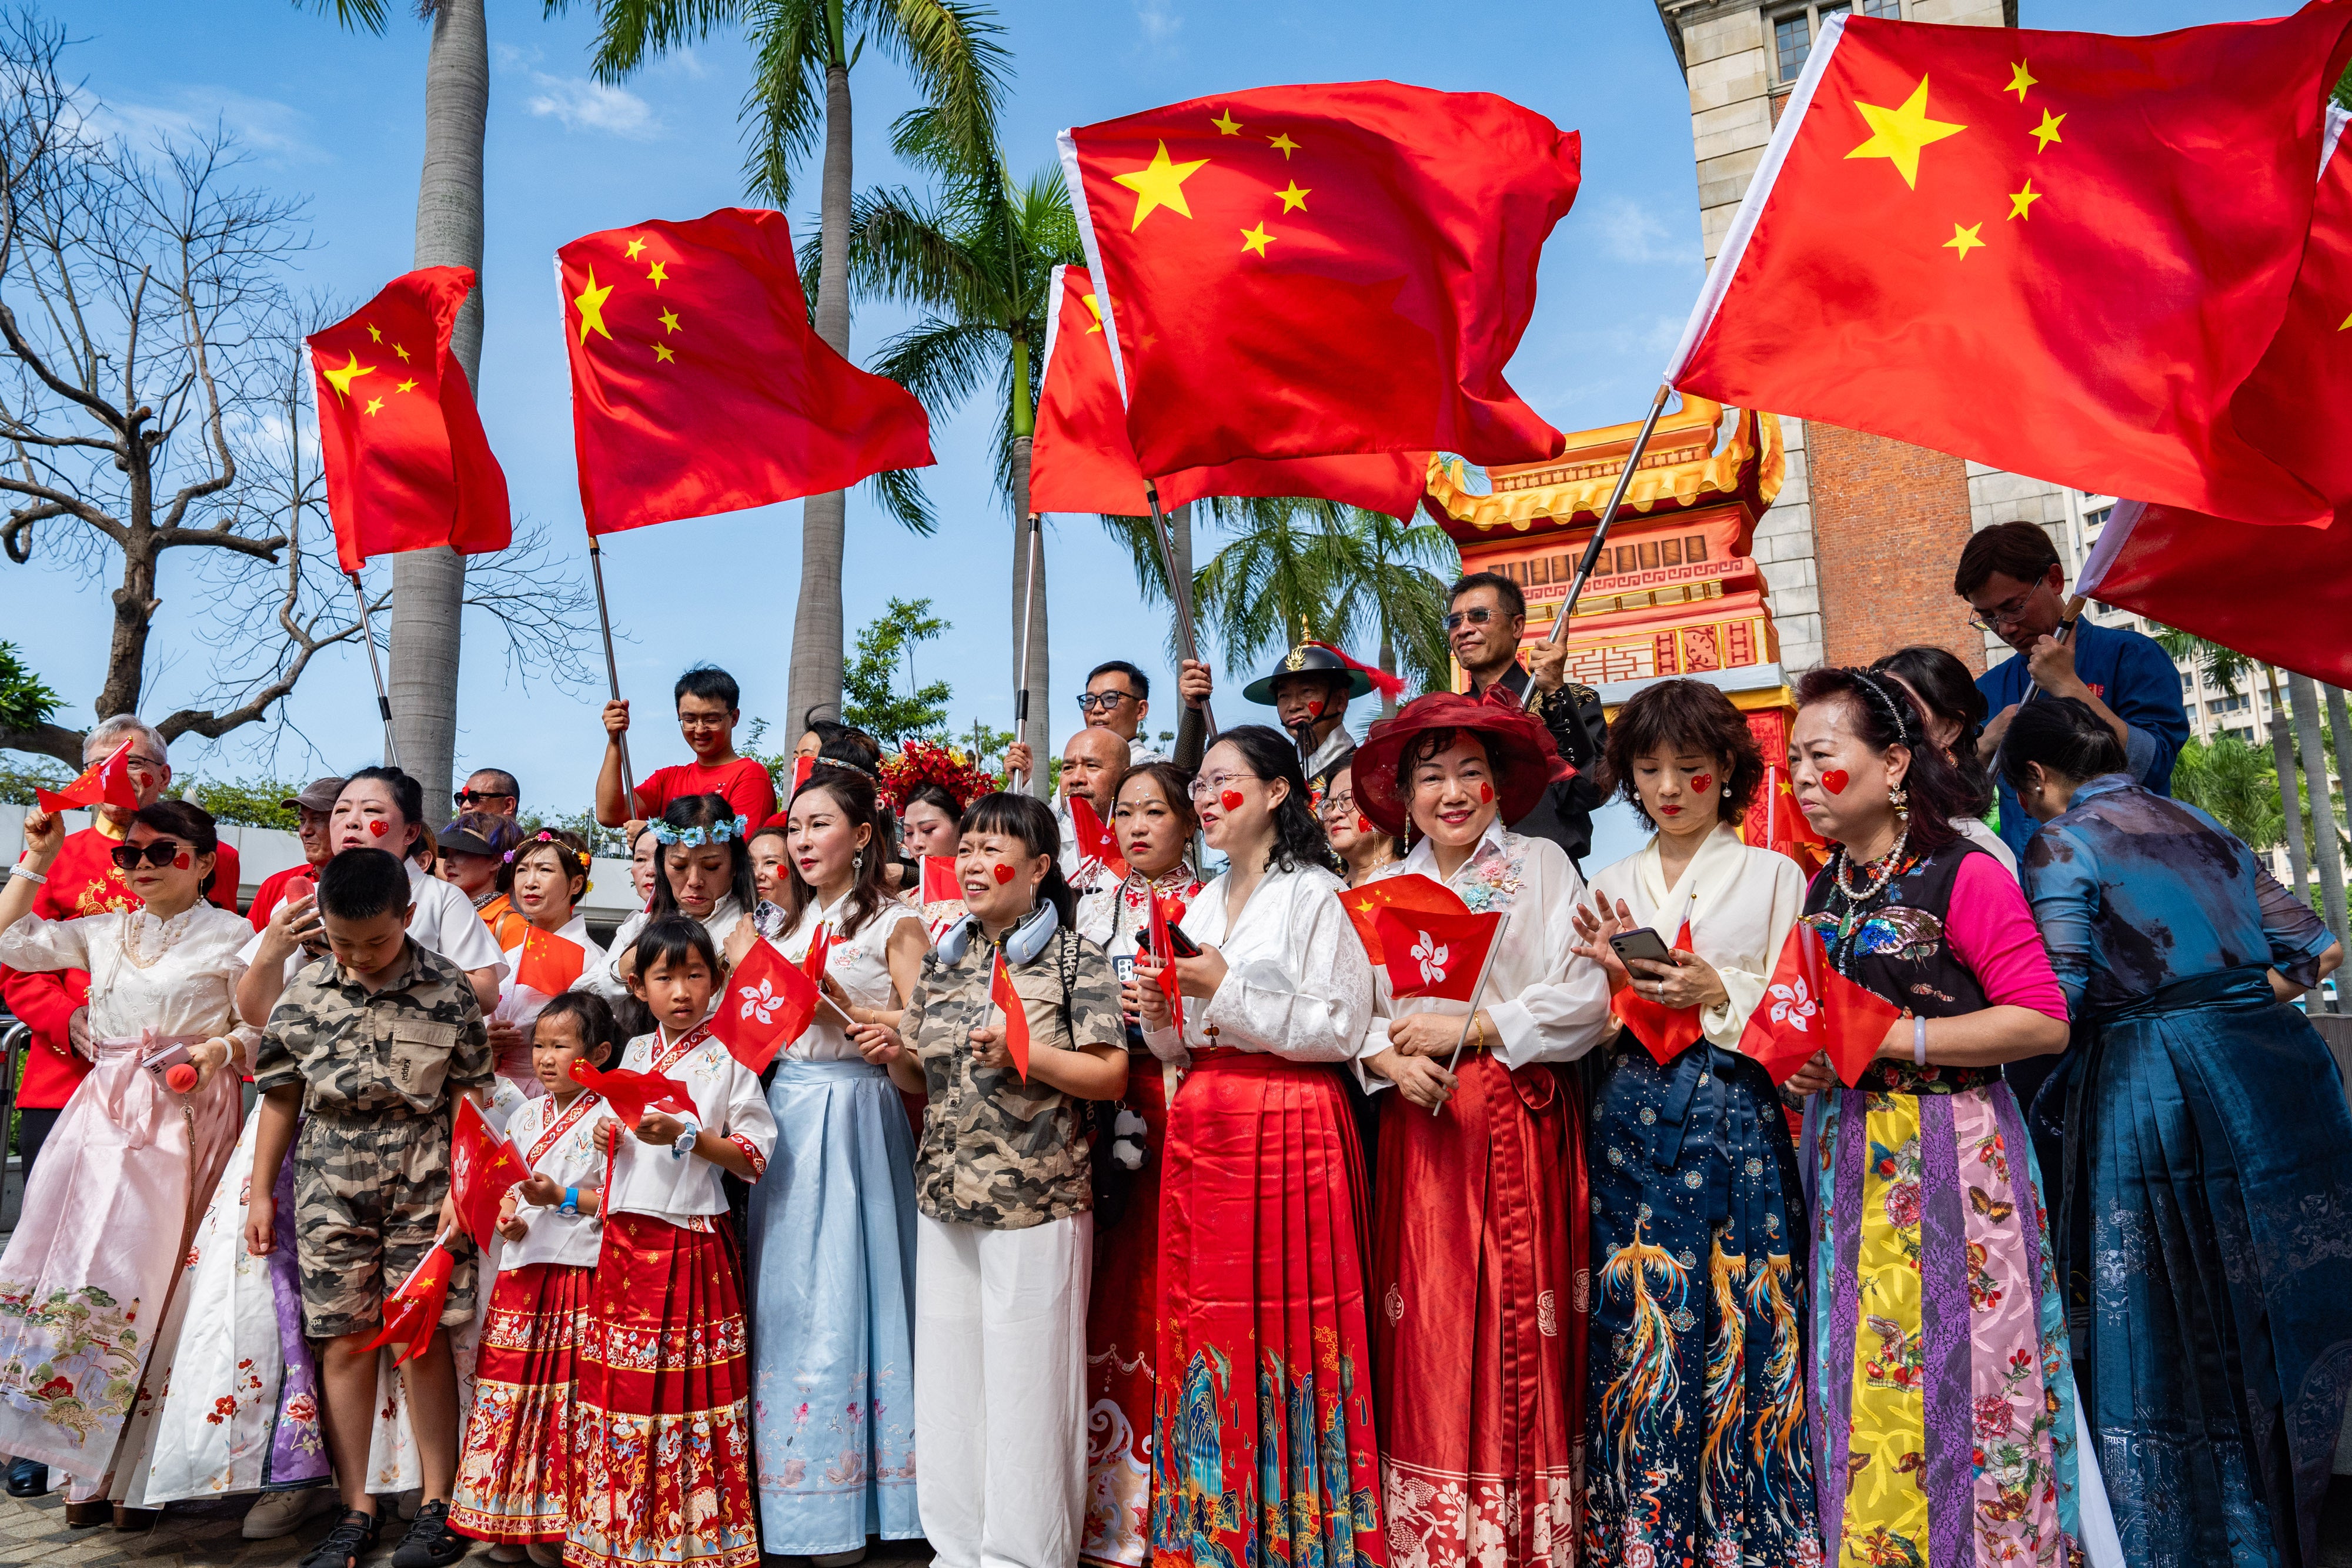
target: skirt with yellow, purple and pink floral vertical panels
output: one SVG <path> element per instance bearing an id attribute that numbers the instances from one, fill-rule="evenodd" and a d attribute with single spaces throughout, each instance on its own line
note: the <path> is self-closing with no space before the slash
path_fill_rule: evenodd
<path id="1" fill-rule="evenodd" d="M 1832 1088 L 1813 1095 L 1806 1138 L 1806 1380 L 1835 1561 L 2077 1561 L 2065 1305 L 2009 1086 Z"/>

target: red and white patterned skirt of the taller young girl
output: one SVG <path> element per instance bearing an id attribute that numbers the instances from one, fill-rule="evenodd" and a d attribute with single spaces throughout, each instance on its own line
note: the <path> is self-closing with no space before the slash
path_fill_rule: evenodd
<path id="1" fill-rule="evenodd" d="M 755 1568 L 743 1300 L 717 1227 L 604 1220 L 579 1347 L 569 1568 Z"/>

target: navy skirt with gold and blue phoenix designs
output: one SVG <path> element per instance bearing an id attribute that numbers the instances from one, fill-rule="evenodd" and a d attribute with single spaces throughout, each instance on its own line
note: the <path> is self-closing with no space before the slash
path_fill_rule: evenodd
<path id="1" fill-rule="evenodd" d="M 1804 1185 L 1762 1067 L 1705 1041 L 1661 1067 L 1618 1039 L 1592 1258 L 1585 1561 L 1818 1563 Z"/>

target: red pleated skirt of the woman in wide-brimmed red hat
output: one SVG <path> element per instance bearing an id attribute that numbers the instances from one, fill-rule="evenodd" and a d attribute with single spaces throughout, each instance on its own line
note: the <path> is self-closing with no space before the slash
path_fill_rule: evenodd
<path id="1" fill-rule="evenodd" d="M 1374 1213 L 1381 1509 L 1399 1561 L 1569 1568 L 1588 1300 L 1569 1081 L 1479 1053 L 1435 1117 L 1388 1093 Z"/>

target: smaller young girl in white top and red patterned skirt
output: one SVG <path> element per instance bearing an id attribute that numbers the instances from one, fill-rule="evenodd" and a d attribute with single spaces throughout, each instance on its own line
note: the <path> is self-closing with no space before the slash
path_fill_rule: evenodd
<path id="1" fill-rule="evenodd" d="M 449 1509 L 452 1530 L 496 1542 L 494 1563 L 529 1552 L 534 1563 L 553 1568 L 572 1528 L 579 1328 L 604 1241 L 597 1133 L 612 1124 L 612 1107 L 572 1079 L 572 1063 L 602 1067 L 614 1051 L 602 997 L 567 992 L 548 1001 L 532 1032 L 541 1093 L 506 1124 L 532 1173 L 499 1218 L 506 1248 L 482 1324 L 473 1418 Z"/>

